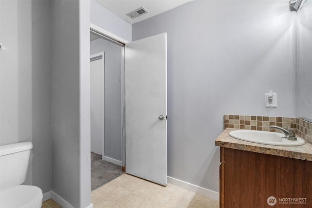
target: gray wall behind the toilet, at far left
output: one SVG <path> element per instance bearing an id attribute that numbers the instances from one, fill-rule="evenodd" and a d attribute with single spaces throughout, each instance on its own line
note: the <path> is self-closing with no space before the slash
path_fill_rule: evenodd
<path id="1" fill-rule="evenodd" d="M 51 2 L 0 1 L 0 145 L 32 141 L 26 184 L 52 188 Z"/>

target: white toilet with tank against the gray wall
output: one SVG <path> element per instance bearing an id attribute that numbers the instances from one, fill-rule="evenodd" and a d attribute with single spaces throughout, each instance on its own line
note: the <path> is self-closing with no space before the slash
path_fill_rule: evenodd
<path id="1" fill-rule="evenodd" d="M 25 182 L 31 142 L 0 146 L 0 208 L 41 208 L 42 191 Z"/>

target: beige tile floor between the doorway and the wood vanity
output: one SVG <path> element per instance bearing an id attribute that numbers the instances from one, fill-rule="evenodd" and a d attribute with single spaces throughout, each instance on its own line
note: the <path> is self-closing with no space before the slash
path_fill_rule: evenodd
<path id="1" fill-rule="evenodd" d="M 91 192 L 94 208 L 219 208 L 219 202 L 168 184 L 159 186 L 122 174 Z"/>

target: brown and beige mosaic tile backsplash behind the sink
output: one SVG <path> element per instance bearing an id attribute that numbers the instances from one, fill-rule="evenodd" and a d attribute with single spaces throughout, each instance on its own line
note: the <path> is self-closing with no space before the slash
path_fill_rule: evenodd
<path id="1" fill-rule="evenodd" d="M 280 130 L 270 129 L 271 125 L 287 128 L 287 125 L 296 133 L 312 144 L 312 123 L 300 118 L 292 117 L 271 117 L 256 115 L 224 115 L 224 129 L 247 129 L 266 132 L 281 132 Z"/>

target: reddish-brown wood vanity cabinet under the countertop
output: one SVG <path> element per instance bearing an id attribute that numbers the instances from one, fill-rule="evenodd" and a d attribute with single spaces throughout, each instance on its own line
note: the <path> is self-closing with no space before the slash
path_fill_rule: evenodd
<path id="1" fill-rule="evenodd" d="M 311 161 L 224 147 L 220 154 L 221 208 L 312 208 Z"/>

